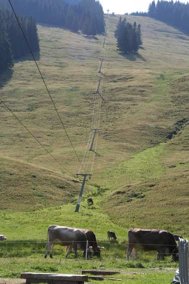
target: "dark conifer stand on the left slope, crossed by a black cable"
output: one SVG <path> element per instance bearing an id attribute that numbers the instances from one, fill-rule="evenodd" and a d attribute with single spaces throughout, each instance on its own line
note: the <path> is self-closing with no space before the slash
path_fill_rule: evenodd
<path id="1" fill-rule="evenodd" d="M 35 20 L 18 16 L 24 34 L 33 52 L 39 52 L 39 39 Z M 15 16 L 0 5 L 0 72 L 13 66 L 13 59 L 19 59 L 30 51 Z"/>

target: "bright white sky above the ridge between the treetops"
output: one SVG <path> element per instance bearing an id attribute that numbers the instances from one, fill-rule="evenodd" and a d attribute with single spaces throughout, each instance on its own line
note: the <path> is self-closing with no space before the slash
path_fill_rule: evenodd
<path id="1" fill-rule="evenodd" d="M 103 6 L 104 12 L 109 9 L 109 12 L 116 14 L 131 13 L 136 11 L 147 12 L 149 3 L 152 0 L 99 0 Z M 180 0 L 187 3 L 188 0 Z M 157 2 L 157 0 L 156 0 Z M 175 2 L 175 1 L 174 1 Z"/>

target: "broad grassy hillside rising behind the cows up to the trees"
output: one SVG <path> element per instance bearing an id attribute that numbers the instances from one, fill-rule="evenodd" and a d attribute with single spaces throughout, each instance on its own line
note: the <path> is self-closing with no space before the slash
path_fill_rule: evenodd
<path id="1" fill-rule="evenodd" d="M 132 226 L 161 227 L 187 235 L 188 221 L 181 221 L 184 218 L 180 214 L 184 213 L 186 219 L 189 215 L 189 37 L 148 17 L 127 19 L 141 24 L 144 44 L 138 55 L 118 52 L 114 37 L 118 16 L 109 17 L 105 101 L 94 175 L 86 187 L 98 204 L 92 216 L 99 218 L 98 214 L 104 214 L 104 218 L 111 219 L 109 227 L 120 227 L 120 231 L 123 227 L 121 239 L 126 238 L 126 231 Z M 91 128 L 103 38 L 85 37 L 52 26 L 38 25 L 38 30 L 40 69 L 82 159 Z M 1 105 L 2 214 L 6 215 L 7 210 L 30 211 L 75 201 L 81 186 L 74 176 L 79 162 L 30 57 L 17 62 L 13 72 L 7 71 L 0 77 L 0 95 L 37 139 L 73 173 L 61 168 Z M 85 208 L 81 207 L 82 210 Z M 48 224 L 55 221 L 51 213 L 46 213 Z M 16 214 L 25 224 L 25 215 Z M 7 218 L 11 226 L 15 221 L 10 215 Z M 56 221 L 74 226 L 71 219 Z M 80 223 L 80 215 L 75 220 Z M 95 224 L 91 228 L 95 229 Z M 6 233 L 6 226 L 3 230 Z M 106 230 L 105 227 L 99 235 L 106 237 Z M 11 230 L 7 232 L 10 238 L 14 237 Z M 33 237 L 38 238 L 38 234 L 33 233 Z"/>

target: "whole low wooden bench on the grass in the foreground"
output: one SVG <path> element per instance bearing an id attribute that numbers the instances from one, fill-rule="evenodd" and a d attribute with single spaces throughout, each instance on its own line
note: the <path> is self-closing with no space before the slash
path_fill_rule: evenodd
<path id="1" fill-rule="evenodd" d="M 49 274 L 49 273 L 22 273 L 21 278 L 26 279 L 26 284 L 48 283 L 48 284 L 84 284 L 88 282 L 87 275 L 72 274 Z"/>

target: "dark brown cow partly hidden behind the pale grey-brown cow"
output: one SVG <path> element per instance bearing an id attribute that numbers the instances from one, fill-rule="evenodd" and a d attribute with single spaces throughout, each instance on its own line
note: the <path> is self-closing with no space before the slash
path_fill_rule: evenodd
<path id="1" fill-rule="evenodd" d="M 100 252 L 101 250 L 104 249 L 104 247 L 99 247 L 97 245 L 97 242 L 96 242 L 96 236 L 95 236 L 95 233 L 91 230 L 88 230 L 88 229 L 78 229 L 78 230 L 81 230 L 82 232 L 85 233 L 86 235 L 86 238 L 88 240 L 88 246 L 89 246 L 89 252 L 92 253 L 92 256 L 97 256 L 98 258 L 100 257 Z M 93 252 L 91 251 L 91 248 L 93 249 Z M 72 247 L 70 246 L 70 248 L 66 248 L 66 250 L 68 251 L 68 249 L 71 251 L 72 250 Z M 86 254 L 86 250 L 84 251 L 84 256 Z"/>

